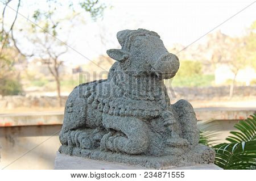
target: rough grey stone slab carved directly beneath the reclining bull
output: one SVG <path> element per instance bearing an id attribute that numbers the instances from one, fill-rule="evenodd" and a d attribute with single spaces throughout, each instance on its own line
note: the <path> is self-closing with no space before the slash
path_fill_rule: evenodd
<path id="1" fill-rule="evenodd" d="M 62 145 L 60 153 L 88 158 L 110 163 L 122 163 L 132 166 L 147 167 L 151 169 L 170 169 L 171 167 L 182 167 L 196 165 L 199 163 L 209 164 L 214 162 L 215 151 L 205 145 L 197 145 L 190 151 L 180 156 L 165 155 L 155 157 L 150 155 L 129 155 L 112 151 L 100 151 L 100 149 L 81 149 Z"/>

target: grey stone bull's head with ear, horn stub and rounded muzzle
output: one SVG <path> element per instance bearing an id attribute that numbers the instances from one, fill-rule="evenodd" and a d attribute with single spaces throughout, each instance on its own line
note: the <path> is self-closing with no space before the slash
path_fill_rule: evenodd
<path id="1" fill-rule="evenodd" d="M 117 33 L 122 49 L 109 49 L 108 55 L 121 64 L 126 73 L 134 76 L 155 74 L 170 79 L 179 69 L 179 59 L 164 47 L 160 36 L 144 29 L 123 30 Z"/>

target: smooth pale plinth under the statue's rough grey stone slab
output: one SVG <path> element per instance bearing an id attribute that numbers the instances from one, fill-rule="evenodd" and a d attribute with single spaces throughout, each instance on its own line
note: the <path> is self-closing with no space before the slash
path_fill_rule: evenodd
<path id="1" fill-rule="evenodd" d="M 142 170 L 150 169 L 141 166 L 130 166 L 122 163 L 112 163 L 105 161 L 96 161 L 93 159 L 80 158 L 59 153 L 57 151 L 55 158 L 55 170 Z M 167 169 L 176 170 L 220 170 L 221 168 L 210 164 L 198 164 L 185 167 L 175 167 Z"/>

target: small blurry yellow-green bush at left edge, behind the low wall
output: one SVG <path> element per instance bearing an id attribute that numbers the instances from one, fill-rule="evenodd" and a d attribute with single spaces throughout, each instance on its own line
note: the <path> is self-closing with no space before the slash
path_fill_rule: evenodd
<path id="1" fill-rule="evenodd" d="M 1 79 L 0 95 L 18 95 L 22 93 L 22 85 L 14 79 Z"/>

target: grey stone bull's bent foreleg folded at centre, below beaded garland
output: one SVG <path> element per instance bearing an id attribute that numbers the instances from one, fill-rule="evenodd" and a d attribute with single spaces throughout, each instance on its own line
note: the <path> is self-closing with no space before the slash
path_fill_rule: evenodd
<path id="1" fill-rule="evenodd" d="M 101 139 L 102 150 L 139 154 L 148 148 L 148 127 L 142 120 L 105 115 L 103 125 L 110 132 Z"/>

